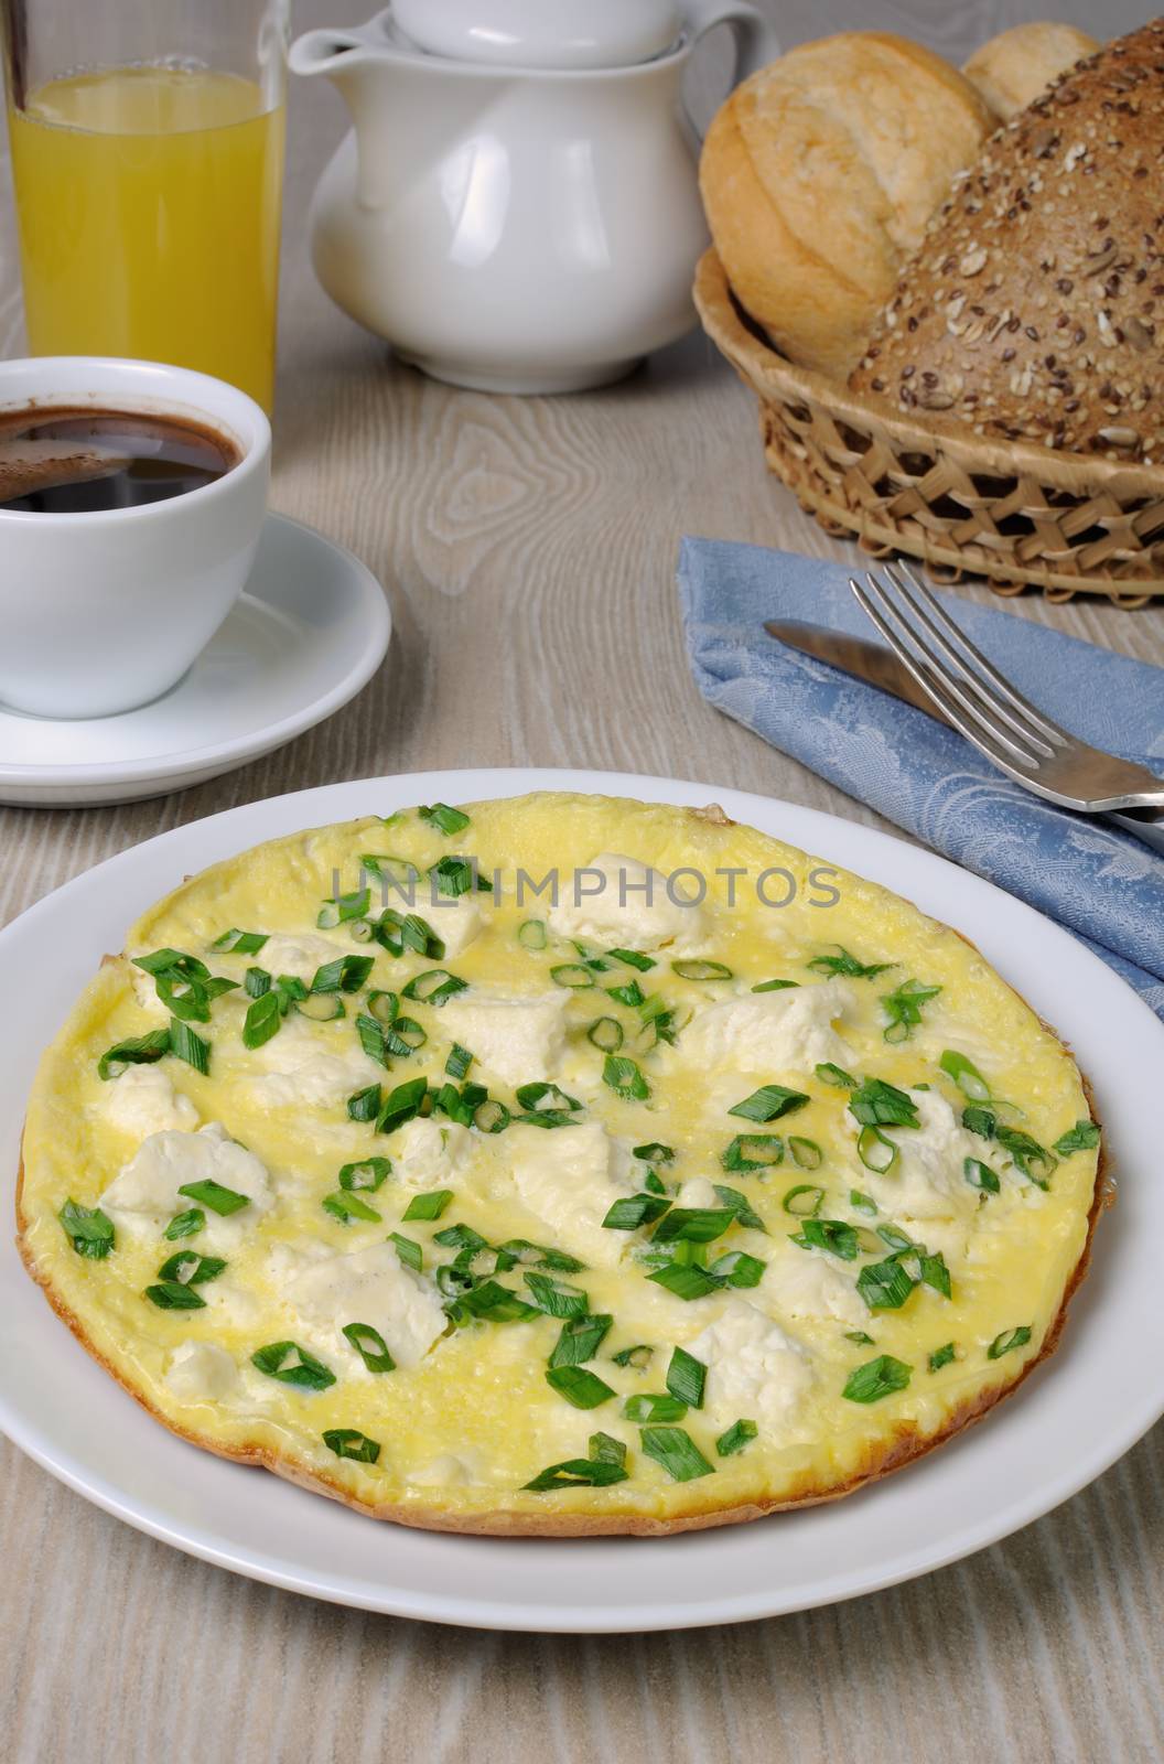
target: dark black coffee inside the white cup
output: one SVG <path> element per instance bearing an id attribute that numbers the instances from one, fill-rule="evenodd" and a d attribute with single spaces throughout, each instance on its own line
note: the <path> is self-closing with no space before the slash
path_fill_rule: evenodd
<path id="1" fill-rule="evenodd" d="M 41 404 L 0 413 L 0 510 L 72 515 L 185 496 L 240 460 L 180 416 Z"/>

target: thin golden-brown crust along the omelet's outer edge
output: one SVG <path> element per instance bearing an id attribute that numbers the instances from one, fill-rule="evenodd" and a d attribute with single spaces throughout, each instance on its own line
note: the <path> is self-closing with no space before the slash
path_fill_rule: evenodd
<path id="1" fill-rule="evenodd" d="M 723 815 L 723 811 L 714 806 L 702 810 L 688 810 L 688 813 L 698 817 L 700 820 L 716 820 L 721 826 L 732 826 L 728 817 Z M 921 908 L 917 910 L 921 912 Z M 931 916 L 926 914 L 926 917 Z M 935 923 L 942 924 L 940 919 Z M 981 954 L 977 946 L 961 931 L 951 926 L 944 928 L 954 930 L 954 935 L 961 937 L 963 942 L 975 951 L 975 954 Z M 1011 988 L 1011 991 L 1014 991 L 1016 998 L 1019 998 L 1028 1011 L 1033 1009 L 1032 1005 L 1026 1004 L 1026 1000 L 1016 988 Z M 1062 1035 L 1058 1035 L 1058 1030 L 1055 1030 L 1053 1025 L 1046 1023 L 1042 1018 L 1039 1018 L 1039 1021 L 1042 1021 L 1042 1027 L 1051 1035 L 1055 1035 L 1058 1044 L 1071 1055 L 1072 1050 L 1062 1039 Z M 1092 1120 L 1102 1129 L 1102 1122 L 1095 1113 L 1095 1095 L 1092 1085 L 1085 1073 L 1079 1073 L 1079 1078 L 1083 1083 L 1085 1095 L 1088 1099 Z M 907 1464 L 915 1462 L 919 1457 L 935 1452 L 938 1446 L 945 1445 L 949 1439 L 963 1432 L 974 1422 L 982 1420 L 982 1416 L 988 1415 L 993 1408 L 996 1408 L 996 1404 L 1004 1397 L 1014 1395 L 1014 1392 L 1030 1376 L 1030 1372 L 1033 1372 L 1037 1365 L 1041 1365 L 1046 1358 L 1049 1358 L 1051 1353 L 1055 1353 L 1063 1334 L 1063 1325 L 1067 1321 L 1067 1307 L 1088 1272 L 1095 1228 L 1099 1224 L 1101 1214 L 1115 1201 L 1111 1159 L 1108 1155 L 1106 1136 L 1102 1136 L 1099 1143 L 1095 1187 L 1092 1191 L 1092 1207 L 1088 1210 L 1088 1230 L 1083 1251 L 1079 1252 L 1079 1259 L 1076 1261 L 1071 1279 L 1063 1288 L 1063 1297 L 1060 1300 L 1058 1311 L 1051 1319 L 1051 1325 L 1042 1341 L 1042 1348 L 1035 1355 L 1035 1358 L 1028 1360 L 1021 1367 L 1018 1376 L 1012 1378 L 1009 1383 L 996 1385 L 995 1388 L 982 1392 L 972 1401 L 963 1402 L 958 1409 L 954 1409 L 945 1427 L 942 1427 L 936 1434 L 922 1438 L 915 1427 L 899 1427 L 894 1439 L 877 1446 L 877 1450 L 871 1450 L 868 1454 L 866 1466 L 855 1476 L 848 1476 L 841 1484 L 820 1485 L 813 1478 L 806 1478 L 802 1491 L 792 1496 L 790 1499 L 739 1501 L 735 1506 L 723 1506 L 718 1505 L 716 1501 L 709 1501 L 707 1506 L 704 1506 L 702 1510 L 683 1514 L 677 1519 L 651 1519 L 647 1515 L 635 1515 L 635 1514 L 610 1515 L 610 1517 L 600 1514 L 563 1514 L 563 1515 L 540 1517 L 536 1514 L 511 1514 L 504 1510 L 494 1514 L 473 1514 L 459 1517 L 455 1514 L 446 1514 L 437 1506 L 406 1508 L 406 1506 L 397 1506 L 392 1501 L 362 1501 L 356 1496 L 353 1496 L 347 1489 L 340 1487 L 340 1484 L 333 1482 L 330 1476 L 316 1469 L 305 1469 L 303 1464 L 289 1454 L 272 1452 L 266 1446 L 257 1446 L 257 1445 L 233 1452 L 224 1450 L 224 1446 L 217 1445 L 205 1434 L 194 1432 L 189 1427 L 178 1427 L 175 1422 L 171 1422 L 166 1415 L 162 1415 L 160 1409 L 157 1409 L 152 1402 L 148 1402 L 141 1395 L 141 1392 L 136 1390 L 132 1383 L 129 1383 L 116 1371 L 116 1367 L 111 1365 L 109 1360 L 95 1348 L 95 1344 L 92 1342 L 92 1339 L 85 1330 L 83 1321 L 76 1316 L 74 1311 L 69 1309 L 60 1293 L 53 1288 L 51 1279 L 44 1275 L 44 1272 L 37 1267 L 37 1261 L 25 1237 L 26 1221 L 21 1207 L 23 1189 L 25 1189 L 25 1161 L 21 1154 L 16 1175 L 16 1247 L 19 1251 L 21 1261 L 25 1263 L 25 1268 L 37 1282 L 37 1286 L 41 1286 L 44 1297 L 48 1298 L 56 1316 L 76 1335 L 85 1351 L 92 1355 L 92 1358 L 97 1360 L 97 1364 L 111 1378 L 116 1379 L 122 1390 L 127 1390 L 129 1395 L 134 1397 L 134 1401 L 139 1402 L 141 1408 L 146 1409 L 169 1432 L 176 1434 L 180 1439 L 187 1439 L 190 1445 L 201 1446 L 205 1452 L 213 1452 L 215 1457 L 226 1457 L 235 1464 L 250 1464 L 259 1469 L 268 1469 L 272 1471 L 272 1475 L 282 1476 L 286 1482 L 295 1482 L 302 1489 L 310 1489 L 314 1494 L 326 1494 L 330 1499 L 340 1501 L 344 1506 L 351 1506 L 356 1512 L 365 1514 L 369 1519 L 384 1519 L 393 1524 L 413 1526 L 418 1531 L 455 1531 L 466 1536 L 529 1536 L 529 1538 L 670 1536 L 679 1531 L 707 1531 L 713 1526 L 737 1526 L 751 1519 L 764 1519 L 767 1517 L 767 1514 L 788 1512 L 790 1508 L 795 1506 L 817 1506 L 822 1501 L 838 1501 L 841 1499 L 841 1496 L 854 1494 L 857 1489 L 862 1489 L 868 1484 L 877 1482 L 880 1476 L 887 1476 L 894 1469 L 903 1469 Z"/>

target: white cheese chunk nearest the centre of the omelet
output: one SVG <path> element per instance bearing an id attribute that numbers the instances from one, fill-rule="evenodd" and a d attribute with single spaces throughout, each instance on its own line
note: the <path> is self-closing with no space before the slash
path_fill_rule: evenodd
<path id="1" fill-rule="evenodd" d="M 548 1226 L 554 1244 L 601 1267 L 619 1261 L 628 1233 L 605 1231 L 603 1219 L 633 1184 L 605 1127 L 510 1127 L 503 1154 L 522 1205 Z"/>

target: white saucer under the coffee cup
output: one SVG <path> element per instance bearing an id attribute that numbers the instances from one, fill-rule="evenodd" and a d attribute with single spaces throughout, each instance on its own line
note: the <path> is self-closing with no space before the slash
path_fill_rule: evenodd
<path id="1" fill-rule="evenodd" d="M 0 803 L 127 803 L 205 783 L 339 711 L 390 635 L 384 591 L 358 557 L 268 515 L 242 600 L 173 691 L 85 721 L 0 706 Z"/>

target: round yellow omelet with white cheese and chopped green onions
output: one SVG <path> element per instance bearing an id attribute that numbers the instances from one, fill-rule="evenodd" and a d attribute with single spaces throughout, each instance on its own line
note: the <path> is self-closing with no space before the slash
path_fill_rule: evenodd
<path id="1" fill-rule="evenodd" d="M 160 1422 L 377 1519 L 663 1535 L 868 1484 L 1056 1342 L 1071 1051 L 956 931 L 718 810 L 273 840 L 42 1058 L 28 1272 Z"/>

